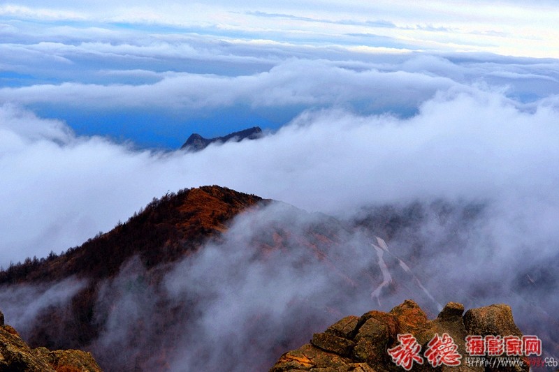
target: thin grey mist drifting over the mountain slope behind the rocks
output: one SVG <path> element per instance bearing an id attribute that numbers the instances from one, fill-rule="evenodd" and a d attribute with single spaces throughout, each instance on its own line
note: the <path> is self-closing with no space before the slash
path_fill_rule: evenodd
<path id="1" fill-rule="evenodd" d="M 451 301 L 509 304 L 556 355 L 556 229 L 538 228 L 549 216 L 531 202 L 502 207 L 418 199 L 344 221 L 281 202 L 248 211 L 160 281 L 137 258 L 124 265 L 99 292 L 92 351 L 108 371 L 265 371 L 344 316 L 414 299 L 430 318 Z M 387 215 L 403 219 L 376 224 L 384 244 L 374 227 Z"/>

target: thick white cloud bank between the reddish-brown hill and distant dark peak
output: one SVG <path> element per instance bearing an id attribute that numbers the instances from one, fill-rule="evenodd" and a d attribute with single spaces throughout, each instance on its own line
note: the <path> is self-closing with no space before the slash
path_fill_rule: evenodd
<path id="1" fill-rule="evenodd" d="M 558 113 L 545 102 L 524 110 L 500 92 L 459 86 L 407 119 L 309 111 L 261 140 L 196 154 L 79 137 L 4 106 L 2 265 L 80 244 L 154 196 L 203 184 L 335 214 L 416 198 L 542 198 L 553 207 Z"/>

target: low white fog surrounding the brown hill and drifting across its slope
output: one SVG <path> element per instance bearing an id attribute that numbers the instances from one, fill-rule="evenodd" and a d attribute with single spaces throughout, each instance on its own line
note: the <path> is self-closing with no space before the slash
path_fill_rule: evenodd
<path id="1" fill-rule="evenodd" d="M 161 282 L 148 281 L 139 260 L 125 265 L 103 283 L 95 308 L 104 327 L 90 347 L 106 368 L 262 370 L 342 316 L 406 298 L 430 316 L 449 301 L 505 302 L 553 355 L 556 104 L 554 96 L 526 105 L 495 89 L 449 89 L 411 117 L 308 110 L 259 140 L 198 153 L 77 136 L 60 121 L 4 106 L 3 262 L 79 244 L 168 190 L 219 184 L 310 214 L 279 204 L 240 216 L 223 244 L 201 248 Z M 416 222 L 378 232 L 389 246 L 382 260 L 375 231 L 339 228 L 335 244 L 319 244 L 326 255 L 298 239 L 328 220 L 316 212 L 350 223 L 383 205 L 405 211 L 413 203 L 421 206 Z M 259 251 L 255 239 L 282 225 L 291 231 L 286 248 Z M 4 293 L 25 302 L 38 290 Z M 52 298 L 64 303 L 72 293 Z M 49 304 L 14 302 L 3 311 L 25 332 Z M 156 350 L 153 358 L 145 350 Z"/>

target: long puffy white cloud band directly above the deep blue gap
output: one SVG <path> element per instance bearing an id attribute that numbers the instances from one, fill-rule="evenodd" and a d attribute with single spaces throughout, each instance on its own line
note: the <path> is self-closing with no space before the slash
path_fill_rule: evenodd
<path id="1" fill-rule="evenodd" d="M 269 71 L 227 77 L 192 73 L 159 74 L 153 84 L 101 85 L 65 82 L 0 89 L 0 99 L 24 105 L 66 107 L 169 107 L 178 110 L 249 107 L 354 105 L 365 112 L 419 102 L 456 84 L 444 77 L 402 71 L 348 70 L 329 61 L 292 59 Z M 324 89 L 328 87 L 328 89 Z M 361 107 L 359 107 L 361 106 Z"/>

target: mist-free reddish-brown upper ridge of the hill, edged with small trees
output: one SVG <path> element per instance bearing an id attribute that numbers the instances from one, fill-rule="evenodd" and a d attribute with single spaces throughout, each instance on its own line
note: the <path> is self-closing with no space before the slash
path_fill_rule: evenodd
<path id="1" fill-rule="evenodd" d="M 117 274 L 133 255 L 140 255 L 148 268 L 172 262 L 207 239 L 219 239 L 233 216 L 260 202 L 267 201 L 219 186 L 168 193 L 154 198 L 126 223 L 64 255 L 26 260 L 0 272 L 0 284 L 56 281 L 72 275 L 99 280 Z"/>

